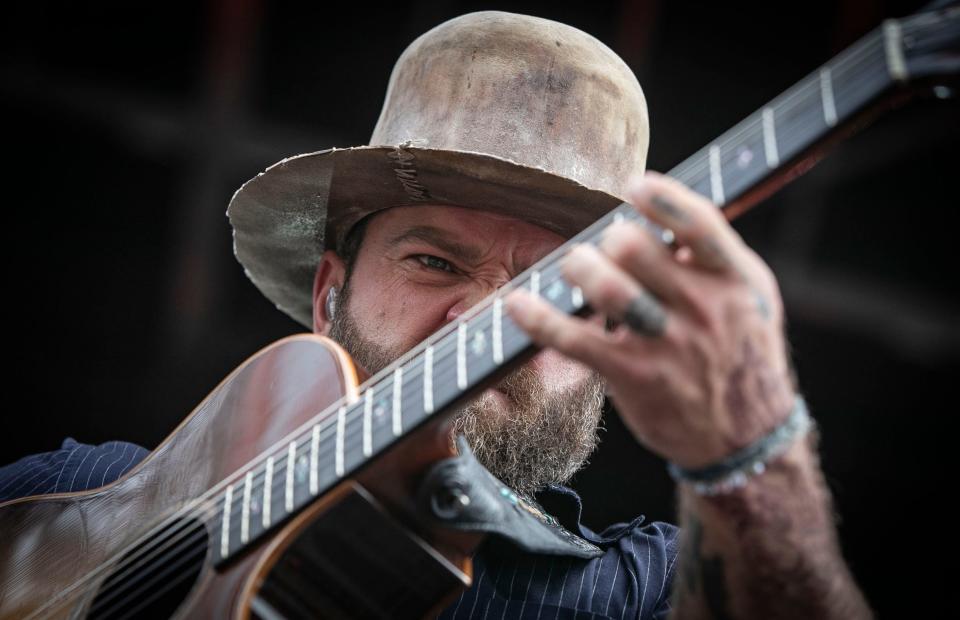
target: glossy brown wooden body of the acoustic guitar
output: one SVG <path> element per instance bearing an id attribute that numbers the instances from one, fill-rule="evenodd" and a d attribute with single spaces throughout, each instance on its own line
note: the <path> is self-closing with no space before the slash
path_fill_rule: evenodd
<path id="1" fill-rule="evenodd" d="M 38 610 L 37 617 L 61 618 L 249 617 L 251 605 L 256 607 L 254 601 L 262 589 L 269 589 L 277 578 L 289 581 L 289 574 L 282 574 L 285 571 L 295 572 L 295 567 L 289 566 L 289 558 L 285 559 L 287 556 L 299 554 L 302 564 L 304 557 L 323 555 L 322 549 L 310 548 L 330 541 L 329 536 L 323 538 L 317 533 L 316 524 L 322 524 L 320 530 L 324 532 L 337 532 L 339 521 L 353 521 L 342 524 L 343 530 L 349 530 L 356 528 L 358 518 L 372 519 L 378 532 L 392 532 L 378 542 L 385 547 L 384 554 L 397 546 L 394 551 L 404 545 L 422 548 L 426 556 L 447 569 L 460 587 L 466 585 L 468 554 L 476 540 L 442 531 L 413 533 L 418 528 L 416 509 L 408 498 L 415 496 L 417 475 L 424 467 L 452 453 L 442 423 L 417 429 L 364 468 L 357 478 L 345 480 L 290 518 L 275 515 L 274 523 L 285 522 L 230 562 L 213 565 L 211 549 L 217 544 L 217 534 L 210 531 L 209 522 L 216 522 L 216 511 L 201 503 L 187 513 L 195 517 L 192 524 L 185 526 L 183 519 L 176 522 L 178 535 L 168 535 L 174 542 L 155 537 L 163 543 L 153 543 L 156 549 L 169 552 L 153 554 L 167 556 L 164 565 L 147 568 L 141 562 L 135 566 L 142 575 L 153 571 L 153 577 L 137 578 L 130 563 L 120 564 L 125 550 L 145 537 L 149 544 L 149 536 L 165 520 L 195 504 L 197 498 L 205 497 L 205 493 L 245 463 L 275 448 L 342 397 L 355 399 L 357 384 L 352 361 L 332 341 L 314 335 L 286 338 L 236 369 L 122 479 L 89 492 L 23 498 L 0 505 L 0 618 L 23 618 Z M 347 498 L 353 498 L 351 507 L 344 508 L 348 506 Z M 359 511 L 357 505 L 361 506 Z M 375 510 L 371 511 L 371 507 Z M 383 510 L 386 507 L 396 517 L 388 515 Z M 186 521 L 191 518 L 187 516 Z M 442 552 L 427 548 L 424 537 L 433 539 Z M 343 543 L 342 538 L 334 536 L 333 542 L 339 545 L 340 553 L 350 553 L 349 541 Z M 178 549 L 180 555 L 171 555 Z M 360 551 L 362 554 L 363 550 Z M 423 559 L 417 560 L 417 554 L 408 551 L 399 555 L 411 561 Z M 340 570 L 348 573 L 351 559 L 336 559 Z M 355 566 L 354 570 L 364 571 L 368 577 L 376 576 L 375 567 Z M 385 570 L 402 572 L 409 567 Z M 74 587 L 78 580 L 91 574 L 96 578 Z M 159 584 L 169 584 L 175 578 L 180 581 L 176 588 L 167 590 L 165 596 L 169 600 L 146 600 L 156 596 L 161 589 Z M 118 581 L 122 579 L 126 581 Z M 447 596 L 459 590 L 449 589 L 450 581 L 436 581 L 448 584 Z M 112 583 L 112 590 L 104 589 L 107 583 Z M 298 587 L 319 591 L 315 583 Z M 390 609 L 393 605 L 391 601 L 377 602 L 380 589 L 388 594 L 388 588 L 378 588 L 376 582 L 365 588 L 363 597 L 369 607 L 366 610 L 352 607 L 356 601 L 351 603 L 348 595 L 335 592 L 333 598 L 320 600 L 314 607 L 299 612 L 376 617 L 380 615 L 377 609 Z M 446 598 L 437 593 L 425 596 L 433 597 L 429 603 L 432 607 Z M 62 600 L 50 604 L 58 599 Z M 280 605 L 271 605 L 266 599 L 260 604 L 267 610 L 276 610 Z M 262 607 L 264 604 L 267 607 Z M 395 605 L 392 608 L 397 609 Z M 424 608 L 413 613 L 422 615 L 428 611 Z M 287 613 L 297 611 L 287 609 Z"/>

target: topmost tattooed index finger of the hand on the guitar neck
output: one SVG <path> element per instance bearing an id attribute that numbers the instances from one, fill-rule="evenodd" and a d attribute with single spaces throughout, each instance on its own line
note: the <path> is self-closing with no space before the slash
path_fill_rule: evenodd
<path id="1" fill-rule="evenodd" d="M 710 271 L 736 273 L 743 242 L 709 200 L 668 177 L 648 173 L 633 179 L 627 198 L 646 217 L 673 231 L 693 262 Z"/>

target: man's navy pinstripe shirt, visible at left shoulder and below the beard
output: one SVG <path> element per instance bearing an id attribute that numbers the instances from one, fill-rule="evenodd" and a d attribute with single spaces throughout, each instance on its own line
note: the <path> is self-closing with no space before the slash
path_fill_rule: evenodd
<path id="1" fill-rule="evenodd" d="M 90 446 L 67 439 L 59 450 L 0 467 L 0 502 L 82 491 L 121 477 L 148 452 L 122 441 Z M 612 525 L 595 533 L 580 523 L 580 498 L 565 487 L 538 496 L 567 529 L 600 547 L 592 560 L 525 553 L 490 540 L 474 558 L 474 583 L 443 620 L 524 618 L 666 618 L 677 570 L 680 530 L 655 521 Z"/>

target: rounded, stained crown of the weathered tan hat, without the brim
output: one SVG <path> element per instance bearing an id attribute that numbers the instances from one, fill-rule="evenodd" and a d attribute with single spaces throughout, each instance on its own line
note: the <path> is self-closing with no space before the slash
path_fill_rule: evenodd
<path id="1" fill-rule="evenodd" d="M 410 44 L 370 139 L 492 155 L 621 197 L 648 142 L 643 91 L 612 50 L 576 28 L 498 11 Z"/>

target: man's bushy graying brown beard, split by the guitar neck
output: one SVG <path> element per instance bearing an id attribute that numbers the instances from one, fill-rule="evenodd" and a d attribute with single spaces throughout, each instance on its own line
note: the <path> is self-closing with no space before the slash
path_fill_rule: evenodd
<path id="1" fill-rule="evenodd" d="M 349 283 L 338 306 L 330 338 L 371 375 L 405 353 L 364 337 L 348 311 Z M 509 400 L 508 409 L 483 393 L 455 414 L 454 434 L 464 435 L 484 467 L 524 495 L 570 480 L 599 442 L 604 388 L 600 375 L 591 373 L 573 388 L 550 392 L 542 377 L 524 365 L 496 387 Z"/>

